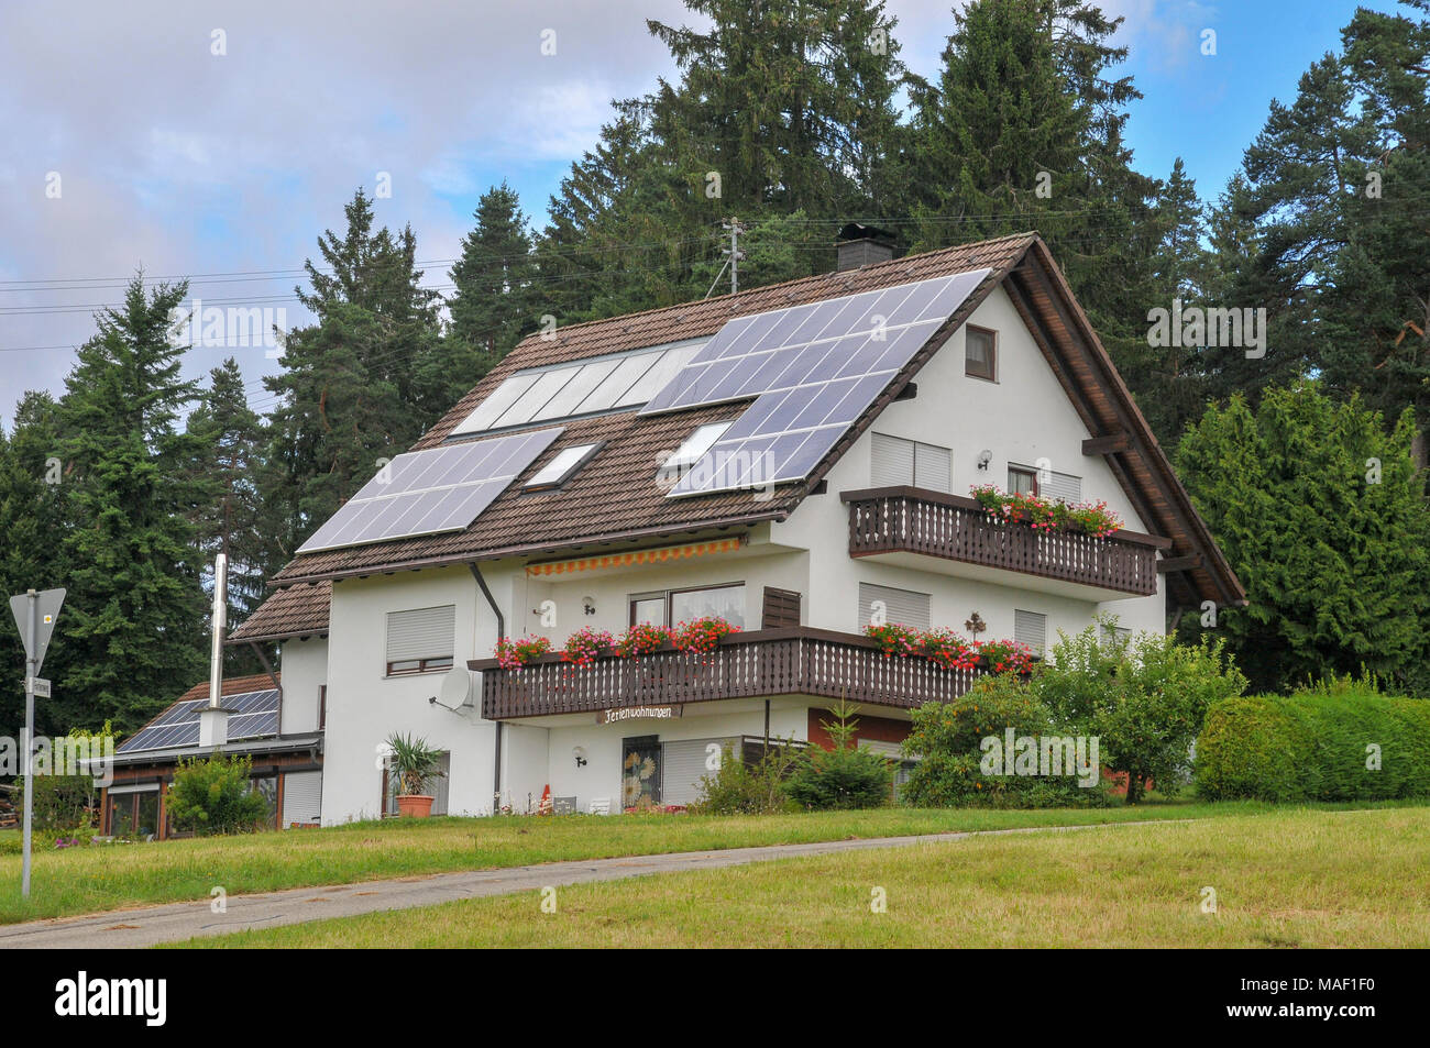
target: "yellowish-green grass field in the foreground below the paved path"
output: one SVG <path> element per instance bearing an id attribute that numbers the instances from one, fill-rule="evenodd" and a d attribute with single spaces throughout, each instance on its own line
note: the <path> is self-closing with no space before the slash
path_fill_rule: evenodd
<path id="1" fill-rule="evenodd" d="M 569 886 L 555 914 L 523 892 L 177 945 L 1426 946 L 1430 808 L 972 838 Z"/>

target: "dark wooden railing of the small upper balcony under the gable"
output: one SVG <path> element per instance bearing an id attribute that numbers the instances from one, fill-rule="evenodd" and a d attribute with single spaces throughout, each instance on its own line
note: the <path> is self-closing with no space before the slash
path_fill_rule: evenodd
<path id="1" fill-rule="evenodd" d="M 1157 550 L 1171 546 L 1141 532 L 1098 539 L 1000 523 L 974 499 L 919 488 L 875 488 L 841 498 L 849 503 L 849 556 L 924 553 L 1147 596 L 1157 592 Z"/>

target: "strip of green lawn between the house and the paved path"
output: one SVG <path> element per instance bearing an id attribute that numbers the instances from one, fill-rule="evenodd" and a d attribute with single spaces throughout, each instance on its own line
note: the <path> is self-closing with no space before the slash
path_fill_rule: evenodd
<path id="1" fill-rule="evenodd" d="M 197 841 L 86 845 L 36 851 L 29 901 L 20 896 L 20 856 L 0 855 L 0 924 L 207 899 L 214 886 L 237 895 L 561 859 L 1266 809 L 1257 804 L 1150 804 L 1032 812 L 887 808 L 759 818 L 405 819 Z"/>

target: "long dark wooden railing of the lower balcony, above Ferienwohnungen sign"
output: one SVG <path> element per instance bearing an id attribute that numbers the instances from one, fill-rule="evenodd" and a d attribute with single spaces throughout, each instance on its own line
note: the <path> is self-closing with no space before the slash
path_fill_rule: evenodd
<path id="1" fill-rule="evenodd" d="M 809 626 L 732 633 L 705 653 L 662 648 L 623 659 L 605 651 L 589 666 L 561 662 L 558 655 L 521 669 L 502 669 L 496 659 L 468 666 L 482 671 L 488 721 L 776 695 L 908 709 L 955 699 L 982 673 L 921 658 L 885 658 L 865 636 Z"/>

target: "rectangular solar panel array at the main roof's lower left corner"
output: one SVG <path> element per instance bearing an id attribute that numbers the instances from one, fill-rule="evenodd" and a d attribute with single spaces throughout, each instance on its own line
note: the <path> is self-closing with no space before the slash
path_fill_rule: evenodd
<path id="1" fill-rule="evenodd" d="M 399 455 L 297 552 L 462 530 L 559 435 L 558 426 Z"/>

